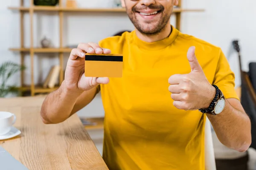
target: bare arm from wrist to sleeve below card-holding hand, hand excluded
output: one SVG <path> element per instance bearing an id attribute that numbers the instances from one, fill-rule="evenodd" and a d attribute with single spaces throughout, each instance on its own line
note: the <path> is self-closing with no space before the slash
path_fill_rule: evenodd
<path id="1" fill-rule="evenodd" d="M 88 91 L 69 91 L 63 82 L 56 91 L 48 94 L 41 107 L 45 124 L 60 123 L 88 105 L 96 95 L 96 88 Z"/>

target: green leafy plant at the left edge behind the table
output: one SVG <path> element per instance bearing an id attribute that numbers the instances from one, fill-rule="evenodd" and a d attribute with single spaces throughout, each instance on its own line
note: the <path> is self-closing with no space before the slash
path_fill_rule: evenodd
<path id="1" fill-rule="evenodd" d="M 0 97 L 6 97 L 8 94 L 15 94 L 19 88 L 15 85 L 8 85 L 8 80 L 18 71 L 25 69 L 25 66 L 14 62 L 4 62 L 0 65 Z"/>

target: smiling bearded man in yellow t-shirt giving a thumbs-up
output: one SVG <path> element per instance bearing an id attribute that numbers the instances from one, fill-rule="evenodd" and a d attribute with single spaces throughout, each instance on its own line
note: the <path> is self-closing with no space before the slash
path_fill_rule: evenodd
<path id="1" fill-rule="evenodd" d="M 240 152 L 250 146 L 250 119 L 227 59 L 170 25 L 177 4 L 122 0 L 135 30 L 79 44 L 64 82 L 42 106 L 43 122 L 59 123 L 101 91 L 103 159 L 111 170 L 204 170 L 206 116 L 224 145 Z M 84 77 L 84 53 L 123 54 L 123 77 Z"/>

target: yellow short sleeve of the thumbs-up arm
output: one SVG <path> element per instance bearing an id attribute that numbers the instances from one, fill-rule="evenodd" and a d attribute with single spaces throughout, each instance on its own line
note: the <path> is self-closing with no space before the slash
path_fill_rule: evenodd
<path id="1" fill-rule="evenodd" d="M 231 70 L 227 58 L 224 56 L 222 50 L 219 52 L 219 59 L 216 66 L 213 84 L 218 86 L 226 99 L 236 98 L 240 101 L 235 90 L 235 74 Z"/>

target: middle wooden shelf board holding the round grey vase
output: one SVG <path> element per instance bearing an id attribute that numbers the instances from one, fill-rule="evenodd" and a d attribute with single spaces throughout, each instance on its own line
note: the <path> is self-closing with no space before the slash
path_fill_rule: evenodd
<path id="1" fill-rule="evenodd" d="M 72 48 L 9 48 L 10 51 L 19 51 L 19 52 L 30 52 L 34 50 L 35 53 L 70 53 Z"/>

